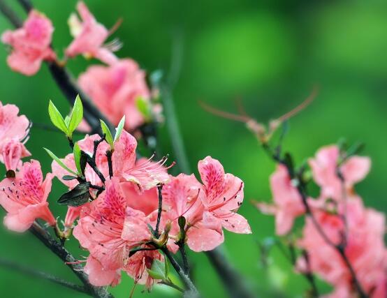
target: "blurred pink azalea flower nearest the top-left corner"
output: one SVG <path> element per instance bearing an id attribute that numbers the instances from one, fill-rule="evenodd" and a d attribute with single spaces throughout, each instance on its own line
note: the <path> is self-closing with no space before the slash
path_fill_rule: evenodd
<path id="1" fill-rule="evenodd" d="M 50 47 L 53 31 L 52 22 L 45 15 L 31 10 L 22 28 L 5 31 L 1 36 L 3 43 L 13 47 L 7 59 L 8 66 L 24 75 L 34 75 L 43 60 L 56 59 Z"/>

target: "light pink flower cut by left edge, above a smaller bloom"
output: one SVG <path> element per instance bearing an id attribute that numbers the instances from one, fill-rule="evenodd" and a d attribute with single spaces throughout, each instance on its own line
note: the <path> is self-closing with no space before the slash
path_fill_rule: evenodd
<path id="1" fill-rule="evenodd" d="M 29 121 L 27 117 L 19 114 L 16 105 L 2 105 L 0 102 L 0 151 L 13 140 L 26 142 L 29 134 Z M 3 161 L 2 161 L 3 162 Z"/>

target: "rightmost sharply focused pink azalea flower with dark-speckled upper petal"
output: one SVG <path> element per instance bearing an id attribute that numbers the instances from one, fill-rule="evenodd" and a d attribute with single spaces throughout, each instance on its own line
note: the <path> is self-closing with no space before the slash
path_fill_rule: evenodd
<path id="1" fill-rule="evenodd" d="M 235 233 L 251 233 L 249 223 L 236 213 L 243 201 L 242 180 L 233 174 L 225 174 L 221 163 L 210 156 L 199 161 L 198 170 L 204 184 L 205 195 L 201 198 L 205 228 L 219 233 L 222 228 Z"/>

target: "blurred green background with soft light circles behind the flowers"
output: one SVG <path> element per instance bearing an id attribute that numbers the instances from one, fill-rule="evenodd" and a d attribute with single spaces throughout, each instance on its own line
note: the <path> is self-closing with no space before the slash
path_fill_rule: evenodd
<path id="1" fill-rule="evenodd" d="M 15 6 L 20 15 L 22 10 Z M 258 242 L 273 234 L 273 219 L 259 214 L 251 199 L 270 200 L 268 176 L 274 165 L 258 147 L 243 124 L 214 117 L 203 111 L 198 100 L 221 110 L 235 112 L 235 98 L 243 99 L 252 117 L 268 121 L 298 105 L 319 84 L 314 103 L 291 119 L 284 146 L 301 163 L 324 144 L 345 136 L 349 142 L 363 141 L 372 157 L 372 170 L 358 192 L 370 207 L 387 211 L 387 2 L 379 0 L 295 1 L 86 1 L 98 20 L 111 27 L 118 17 L 124 22 L 115 33 L 124 43 L 119 57 L 132 57 L 147 71 L 168 73 L 172 40 L 182 33 L 182 71 L 174 97 L 177 117 L 189 161 L 207 155 L 218 158 L 228 172 L 245 182 L 245 203 L 240 209 L 254 234 L 226 232 L 224 249 L 260 297 L 271 297 L 272 289 L 284 297 L 301 297 L 308 285 L 293 273 L 279 251 L 272 251 L 270 266 L 260 265 Z M 54 47 L 59 53 L 71 41 L 66 24 L 75 1 L 35 0 L 34 5 L 54 23 Z M 10 24 L 0 17 L 0 31 Z M 13 73 L 6 66 L 6 49 L 0 47 L 0 100 L 15 103 L 33 122 L 49 124 L 47 106 L 51 98 L 66 112 L 68 103 L 43 66 L 34 77 Z M 73 73 L 85 70 L 82 58 L 68 64 Z M 161 128 L 164 153 L 173 152 L 166 128 Z M 42 147 L 58 156 L 67 153 L 59 133 L 32 128 L 28 148 L 50 170 L 50 158 Z M 54 182 L 50 206 L 63 218 L 66 208 L 55 204 L 64 187 Z M 0 212 L 3 216 L 3 211 Z M 66 244 L 80 252 L 76 241 Z M 80 253 L 82 254 L 82 253 Z M 60 260 L 30 234 L 0 230 L 0 255 L 76 281 Z M 204 254 L 190 253 L 194 278 L 205 297 L 226 297 L 219 278 Z M 129 297 L 129 278 L 112 292 Z M 319 283 L 321 289 L 329 288 Z M 139 297 L 143 288 L 136 289 Z M 48 281 L 0 268 L 1 297 L 84 297 Z M 176 292 L 156 287 L 144 297 L 175 297 Z M 278 294 L 277 294 L 278 295 Z M 142 297 L 142 296 L 140 296 Z"/>

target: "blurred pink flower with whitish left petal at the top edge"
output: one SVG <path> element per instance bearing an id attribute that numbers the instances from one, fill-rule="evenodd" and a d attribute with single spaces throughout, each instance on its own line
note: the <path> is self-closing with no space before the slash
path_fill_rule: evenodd
<path id="1" fill-rule="evenodd" d="M 103 43 L 110 35 L 108 29 L 96 22 L 94 15 L 90 13 L 82 1 L 78 2 L 77 10 L 82 22 L 75 13 L 68 20 L 71 34 L 75 39 L 68 45 L 65 52 L 66 56 L 75 57 L 83 54 L 85 57 L 94 57 L 106 64 L 115 64 L 117 57 L 107 46 L 103 46 Z"/>

